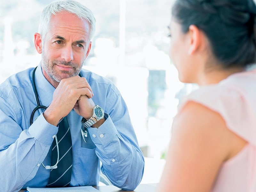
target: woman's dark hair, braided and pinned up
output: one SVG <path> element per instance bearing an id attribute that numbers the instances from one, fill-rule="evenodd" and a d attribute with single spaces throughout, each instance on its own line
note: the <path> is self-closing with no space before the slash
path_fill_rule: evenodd
<path id="1" fill-rule="evenodd" d="M 224 68 L 255 63 L 256 6 L 253 0 L 176 0 L 172 16 L 184 33 L 190 25 L 203 30 L 215 58 Z"/>

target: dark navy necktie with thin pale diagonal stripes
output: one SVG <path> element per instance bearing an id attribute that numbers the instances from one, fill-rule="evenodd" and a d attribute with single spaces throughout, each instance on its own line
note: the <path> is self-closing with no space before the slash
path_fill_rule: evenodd
<path id="1" fill-rule="evenodd" d="M 59 144 L 59 163 L 57 169 L 52 169 L 46 187 L 67 187 L 72 173 L 72 141 L 67 117 L 59 122 L 57 133 Z M 52 165 L 57 162 L 56 142 L 52 142 Z"/>

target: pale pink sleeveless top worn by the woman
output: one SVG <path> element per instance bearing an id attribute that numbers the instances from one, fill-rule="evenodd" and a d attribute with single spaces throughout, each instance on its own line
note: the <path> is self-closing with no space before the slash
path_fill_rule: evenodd
<path id="1" fill-rule="evenodd" d="M 256 192 L 256 69 L 202 86 L 184 98 L 218 112 L 227 127 L 248 144 L 224 162 L 211 192 Z"/>

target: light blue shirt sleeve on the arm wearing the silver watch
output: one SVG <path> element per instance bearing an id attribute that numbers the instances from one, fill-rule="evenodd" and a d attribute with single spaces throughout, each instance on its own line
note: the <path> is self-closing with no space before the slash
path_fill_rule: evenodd
<path id="1" fill-rule="evenodd" d="M 144 172 L 144 157 L 132 127 L 127 106 L 120 95 L 107 96 L 106 121 L 88 132 L 102 162 L 101 171 L 116 187 L 134 190 Z"/>

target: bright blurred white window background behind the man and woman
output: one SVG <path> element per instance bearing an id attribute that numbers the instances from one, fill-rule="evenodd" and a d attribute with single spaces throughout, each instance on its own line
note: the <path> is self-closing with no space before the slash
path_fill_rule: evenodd
<path id="1" fill-rule="evenodd" d="M 183 84 L 169 58 L 172 0 L 78 0 L 92 10 L 96 33 L 84 68 L 112 80 L 129 109 L 146 157 L 142 183 L 157 183 L 181 98 L 196 89 Z M 52 0 L 0 0 L 0 83 L 36 67 L 39 17 Z"/>

